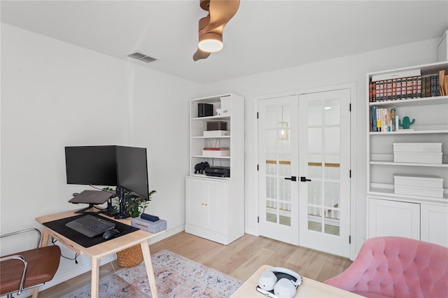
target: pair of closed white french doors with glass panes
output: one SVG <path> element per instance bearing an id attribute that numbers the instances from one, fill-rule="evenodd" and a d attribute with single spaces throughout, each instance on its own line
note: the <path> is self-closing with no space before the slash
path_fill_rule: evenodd
<path id="1" fill-rule="evenodd" d="M 349 257 L 350 93 L 258 101 L 260 235 Z"/>

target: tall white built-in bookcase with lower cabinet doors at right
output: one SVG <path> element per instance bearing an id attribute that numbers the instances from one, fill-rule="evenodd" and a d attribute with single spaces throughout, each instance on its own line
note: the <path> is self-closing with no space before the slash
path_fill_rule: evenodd
<path id="1" fill-rule="evenodd" d="M 401 78 L 415 70 L 421 77 L 440 70 L 448 73 L 448 62 L 368 73 L 367 90 L 372 78 Z M 367 101 L 371 92 L 367 91 Z M 407 116 L 415 119 L 414 125 L 395 132 L 374 132 L 372 106 L 395 107 L 400 120 Z M 370 101 L 366 116 L 367 236 L 405 236 L 448 247 L 448 96 Z M 442 164 L 394 162 L 393 143 L 442 143 Z M 396 194 L 396 174 L 443 178 L 443 197 Z"/>

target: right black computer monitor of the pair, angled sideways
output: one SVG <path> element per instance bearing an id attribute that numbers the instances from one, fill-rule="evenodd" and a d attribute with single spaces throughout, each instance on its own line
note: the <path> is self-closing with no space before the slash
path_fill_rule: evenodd
<path id="1" fill-rule="evenodd" d="M 146 148 L 117 146 L 118 186 L 149 200 Z"/>

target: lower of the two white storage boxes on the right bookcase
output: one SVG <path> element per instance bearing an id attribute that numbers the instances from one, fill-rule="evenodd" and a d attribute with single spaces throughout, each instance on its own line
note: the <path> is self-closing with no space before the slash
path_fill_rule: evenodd
<path id="1" fill-rule="evenodd" d="M 443 178 L 437 176 L 395 174 L 393 184 L 395 194 L 443 197 Z"/>

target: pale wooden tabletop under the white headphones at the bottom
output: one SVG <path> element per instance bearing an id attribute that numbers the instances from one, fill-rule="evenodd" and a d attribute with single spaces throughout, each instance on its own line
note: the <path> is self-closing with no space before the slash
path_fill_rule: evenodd
<path id="1" fill-rule="evenodd" d="M 260 267 L 230 297 L 232 298 L 266 297 L 265 295 L 262 295 L 262 293 L 257 292 L 255 288 L 258 285 L 258 278 L 260 277 L 262 272 L 266 271 L 270 267 L 272 266 L 263 265 L 262 267 Z M 295 292 L 294 297 L 362 297 L 362 296 L 302 276 L 302 285 L 300 285 L 300 287 L 297 288 L 297 292 Z"/>

